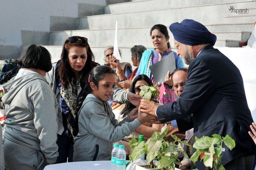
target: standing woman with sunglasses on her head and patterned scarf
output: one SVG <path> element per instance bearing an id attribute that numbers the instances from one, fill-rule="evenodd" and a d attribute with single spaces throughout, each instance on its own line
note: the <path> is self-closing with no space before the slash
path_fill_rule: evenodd
<path id="1" fill-rule="evenodd" d="M 73 161 L 74 137 L 78 133 L 78 98 L 86 83 L 84 77 L 97 65 L 87 38 L 72 36 L 63 45 L 61 59 L 45 76 L 59 101 L 56 163 Z"/>

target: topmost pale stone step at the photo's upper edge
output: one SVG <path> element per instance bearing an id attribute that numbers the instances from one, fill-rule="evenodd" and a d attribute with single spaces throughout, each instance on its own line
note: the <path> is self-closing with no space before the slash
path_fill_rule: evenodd
<path id="1" fill-rule="evenodd" d="M 249 2 L 251 0 L 204 0 L 204 1 L 191 1 L 191 0 L 144 0 L 127 2 L 120 4 L 109 4 L 104 7 L 105 14 L 121 14 L 121 13 L 132 13 L 132 12 L 142 12 L 142 11 L 155 11 L 163 9 L 178 9 L 178 8 L 188 8 L 192 6 L 205 6 L 205 5 L 228 5 L 236 3 L 235 8 L 240 8 L 240 2 Z M 247 7 L 249 8 L 249 6 Z"/>

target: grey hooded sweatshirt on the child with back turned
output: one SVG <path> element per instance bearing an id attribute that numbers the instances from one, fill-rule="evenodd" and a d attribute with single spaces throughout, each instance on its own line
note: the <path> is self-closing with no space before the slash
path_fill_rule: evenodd
<path id="1" fill-rule="evenodd" d="M 45 78 L 36 72 L 20 69 L 16 77 L 3 84 L 3 89 L 2 100 L 6 106 L 4 138 L 21 147 L 42 152 L 47 163 L 55 163 L 58 157 L 58 103 Z M 19 148 L 13 150 L 17 155 L 22 154 Z M 4 156 L 8 155 L 4 152 Z M 8 161 L 15 164 L 14 160 Z"/>

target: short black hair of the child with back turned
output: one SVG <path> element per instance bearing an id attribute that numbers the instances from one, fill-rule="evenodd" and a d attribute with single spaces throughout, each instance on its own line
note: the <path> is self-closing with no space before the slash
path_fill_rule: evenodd
<path id="1" fill-rule="evenodd" d="M 46 48 L 32 44 L 20 56 L 17 64 L 21 68 L 34 68 L 48 72 L 52 69 L 51 58 L 51 54 Z"/>

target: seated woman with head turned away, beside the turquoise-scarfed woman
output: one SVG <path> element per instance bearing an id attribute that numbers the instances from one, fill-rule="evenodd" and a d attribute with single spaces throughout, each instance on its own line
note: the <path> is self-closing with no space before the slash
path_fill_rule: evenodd
<path id="1" fill-rule="evenodd" d="M 119 85 L 121 85 L 123 88 L 126 88 L 126 89 L 130 88 L 132 81 L 135 78 L 135 75 L 137 73 L 138 67 L 140 65 L 140 59 L 141 59 L 142 53 L 145 50 L 147 50 L 147 48 L 142 45 L 135 45 L 131 48 L 132 64 L 137 68 L 132 72 L 132 74 L 130 75 L 130 77 L 127 78 L 127 80 L 119 82 Z"/>

